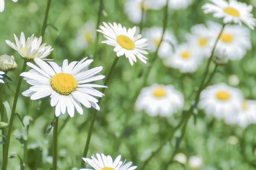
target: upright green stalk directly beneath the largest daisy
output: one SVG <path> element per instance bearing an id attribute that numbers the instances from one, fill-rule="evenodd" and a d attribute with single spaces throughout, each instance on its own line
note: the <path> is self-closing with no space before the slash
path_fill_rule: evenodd
<path id="1" fill-rule="evenodd" d="M 54 115 L 53 138 L 52 138 L 52 170 L 57 170 L 58 160 L 58 117 Z"/>

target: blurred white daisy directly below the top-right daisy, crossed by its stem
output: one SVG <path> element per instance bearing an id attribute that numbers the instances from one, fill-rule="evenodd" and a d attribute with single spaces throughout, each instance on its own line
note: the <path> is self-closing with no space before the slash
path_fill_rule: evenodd
<path id="1" fill-rule="evenodd" d="M 222 26 L 218 23 L 209 23 L 209 28 L 217 39 Z M 231 60 L 242 59 L 247 50 L 251 49 L 250 30 L 244 26 L 225 26 L 216 49 L 225 51 Z"/>

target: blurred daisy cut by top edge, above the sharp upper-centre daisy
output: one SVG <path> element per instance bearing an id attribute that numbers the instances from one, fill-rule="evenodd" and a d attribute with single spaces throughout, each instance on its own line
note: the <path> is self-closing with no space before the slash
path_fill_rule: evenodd
<path id="1" fill-rule="evenodd" d="M 124 8 L 129 20 L 140 23 L 143 10 L 158 10 L 165 5 L 166 0 L 126 0 Z"/>

